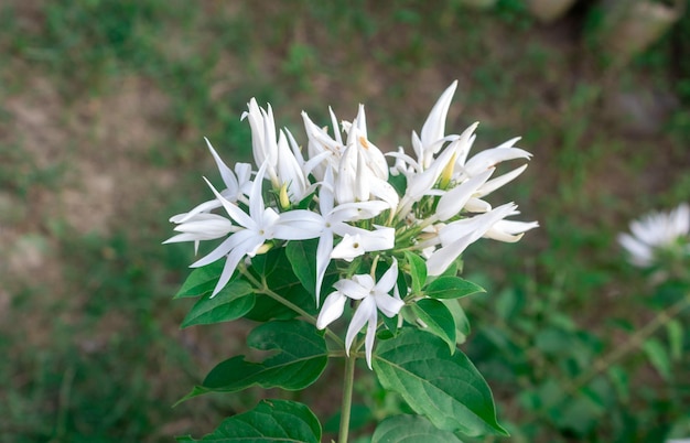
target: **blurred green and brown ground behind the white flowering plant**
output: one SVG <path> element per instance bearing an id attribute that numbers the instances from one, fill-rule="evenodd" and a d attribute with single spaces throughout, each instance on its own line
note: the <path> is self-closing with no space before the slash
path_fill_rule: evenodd
<path id="1" fill-rule="evenodd" d="M 475 152 L 522 136 L 535 154 L 490 201 L 541 228 L 465 255 L 488 293 L 466 302 L 463 348 L 511 441 L 690 436 L 687 312 L 635 342 L 678 289 L 651 289 L 615 242 L 690 201 L 690 19 L 625 60 L 605 19 L 596 1 L 552 23 L 517 0 L 3 1 L 0 441 L 171 441 L 252 407 L 265 393 L 171 408 L 250 326 L 181 331 L 190 304 L 171 300 L 193 251 L 161 245 L 168 218 L 217 179 L 203 137 L 248 161 L 251 97 L 302 143 L 301 110 L 326 125 L 328 106 L 351 120 L 363 102 L 370 139 L 409 149 L 454 79 L 446 132 L 478 120 Z M 299 398 L 322 422 L 337 370 Z M 399 408 L 370 383 L 362 432 Z"/>

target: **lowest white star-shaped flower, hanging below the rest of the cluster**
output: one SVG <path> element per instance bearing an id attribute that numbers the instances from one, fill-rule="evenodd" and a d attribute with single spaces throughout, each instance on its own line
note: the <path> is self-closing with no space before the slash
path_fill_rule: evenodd
<path id="1" fill-rule="evenodd" d="M 353 315 L 345 336 L 345 350 L 349 355 L 349 348 L 364 325 L 367 325 L 365 338 L 366 359 L 371 369 L 371 352 L 378 322 L 378 311 L 387 317 L 392 317 L 405 305 L 402 300 L 390 295 L 398 279 L 398 262 L 393 259 L 390 268 L 384 273 L 378 282 L 369 274 L 356 274 L 349 280 L 339 280 L 334 284 L 336 289 L 324 301 L 323 307 L 316 320 L 316 327 L 323 329 L 343 314 L 347 299 L 359 300 L 359 306 Z"/>

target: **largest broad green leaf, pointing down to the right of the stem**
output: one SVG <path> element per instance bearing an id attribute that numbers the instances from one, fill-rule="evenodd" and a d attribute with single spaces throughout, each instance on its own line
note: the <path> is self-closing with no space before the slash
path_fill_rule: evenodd
<path id="1" fill-rule="evenodd" d="M 398 392 L 436 428 L 475 436 L 507 435 L 496 421 L 492 391 L 470 359 L 451 355 L 439 337 L 414 328 L 379 342 L 374 370 L 385 389 Z"/>

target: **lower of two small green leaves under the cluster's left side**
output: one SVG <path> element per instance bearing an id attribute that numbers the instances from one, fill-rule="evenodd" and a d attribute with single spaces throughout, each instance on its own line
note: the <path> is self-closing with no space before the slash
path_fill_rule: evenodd
<path id="1" fill-rule="evenodd" d="M 204 295 L 182 322 L 182 327 L 201 324 L 230 322 L 248 313 L 255 303 L 252 288 L 244 280 L 228 283 L 214 296 Z"/>

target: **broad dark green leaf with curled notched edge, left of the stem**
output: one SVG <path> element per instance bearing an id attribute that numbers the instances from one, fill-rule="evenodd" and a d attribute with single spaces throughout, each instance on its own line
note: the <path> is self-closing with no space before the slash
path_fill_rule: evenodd
<path id="1" fill-rule="evenodd" d="M 321 376 L 328 358 L 322 333 L 299 320 L 261 324 L 249 333 L 247 345 L 277 353 L 261 363 L 247 361 L 241 355 L 219 363 L 203 385 L 183 400 L 211 391 L 239 391 L 254 385 L 266 389 L 304 389 Z"/>

